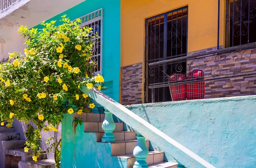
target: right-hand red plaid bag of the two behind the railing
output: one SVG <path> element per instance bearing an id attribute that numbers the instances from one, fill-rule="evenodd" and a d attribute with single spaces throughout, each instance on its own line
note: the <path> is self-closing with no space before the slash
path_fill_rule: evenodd
<path id="1" fill-rule="evenodd" d="M 193 70 L 188 74 L 188 79 L 198 79 L 204 76 L 202 70 Z M 200 78 L 204 79 L 204 78 Z M 188 100 L 192 99 L 202 99 L 204 98 L 204 82 L 195 82 L 186 84 L 186 98 Z"/>

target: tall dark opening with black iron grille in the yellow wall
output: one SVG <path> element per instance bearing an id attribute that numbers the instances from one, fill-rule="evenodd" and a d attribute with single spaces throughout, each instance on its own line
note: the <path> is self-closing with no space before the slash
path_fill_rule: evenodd
<path id="1" fill-rule="evenodd" d="M 177 73 L 177 66 L 180 66 L 178 73 L 186 73 L 186 61 L 163 64 L 153 69 L 150 69 L 148 63 L 186 55 L 187 23 L 188 7 L 146 19 L 145 102 L 151 102 L 152 97 L 154 97 L 155 102 L 170 101 L 171 96 L 168 87 L 149 89 L 148 85 L 161 83 L 166 80 L 166 75 Z"/>

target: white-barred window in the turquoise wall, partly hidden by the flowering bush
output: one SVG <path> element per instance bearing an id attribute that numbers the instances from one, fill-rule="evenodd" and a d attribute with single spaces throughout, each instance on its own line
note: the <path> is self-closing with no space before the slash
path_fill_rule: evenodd
<path id="1" fill-rule="evenodd" d="M 80 17 L 81 19 L 81 27 L 91 27 L 92 28 L 92 36 L 97 35 L 97 37 L 93 38 L 92 41 L 94 41 L 94 46 L 92 50 L 93 57 L 91 59 L 95 62 L 97 62 L 98 68 L 95 70 L 95 74 L 102 74 L 102 67 L 101 67 L 101 44 L 102 44 L 102 9 L 99 9 L 97 11 L 93 11 L 92 13 L 89 13 L 87 15 L 84 15 Z"/>

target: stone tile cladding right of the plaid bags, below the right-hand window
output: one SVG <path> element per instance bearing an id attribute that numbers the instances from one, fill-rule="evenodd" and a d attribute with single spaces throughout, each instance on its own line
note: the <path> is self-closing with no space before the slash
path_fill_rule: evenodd
<path id="1" fill-rule="evenodd" d="M 250 57 L 249 57 L 250 56 Z M 219 74 L 241 74 L 247 71 L 256 72 L 256 49 L 242 50 L 223 55 L 216 55 L 202 58 L 205 62 L 203 69 L 204 76 L 213 76 Z M 188 61 L 188 71 L 198 69 L 199 65 L 203 65 L 201 59 Z M 217 76 L 218 77 L 218 76 Z M 256 94 L 256 76 L 243 76 L 231 79 L 211 80 L 205 82 L 204 98 L 219 98 L 231 96 L 245 96 Z"/>

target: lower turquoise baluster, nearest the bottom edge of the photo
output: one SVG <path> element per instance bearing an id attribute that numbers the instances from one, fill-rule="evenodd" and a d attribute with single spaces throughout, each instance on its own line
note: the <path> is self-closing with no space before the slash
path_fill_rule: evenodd
<path id="1" fill-rule="evenodd" d="M 133 150 L 133 155 L 137 161 L 135 161 L 133 168 L 148 168 L 148 163 L 146 162 L 146 158 L 148 157 L 148 148 L 146 146 L 145 137 L 140 133 L 137 133 L 136 138 L 137 143 Z"/>

